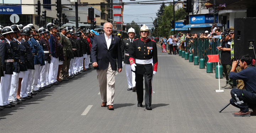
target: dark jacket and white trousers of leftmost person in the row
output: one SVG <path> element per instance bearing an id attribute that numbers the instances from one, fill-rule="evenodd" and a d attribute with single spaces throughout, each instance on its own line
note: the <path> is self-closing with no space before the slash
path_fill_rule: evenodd
<path id="1" fill-rule="evenodd" d="M 0 106 L 10 104 L 8 101 L 10 88 L 11 88 L 11 76 L 13 74 L 13 58 L 11 49 L 11 40 L 3 39 L 0 43 L 0 56 L 1 63 L 4 69 L 4 76 L 1 77 L 0 83 Z"/>

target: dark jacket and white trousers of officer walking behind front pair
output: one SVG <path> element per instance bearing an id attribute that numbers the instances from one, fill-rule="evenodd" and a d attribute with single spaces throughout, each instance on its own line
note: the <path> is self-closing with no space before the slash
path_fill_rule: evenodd
<path id="1" fill-rule="evenodd" d="M 132 90 L 133 87 L 135 87 L 135 73 L 132 72 L 132 68 L 130 66 L 130 62 L 129 62 L 129 52 L 130 52 L 130 48 L 132 47 L 132 41 L 134 39 L 123 39 L 122 41 L 122 45 L 121 45 L 121 52 L 122 52 L 122 60 L 125 64 L 125 68 L 126 68 L 126 77 L 127 77 L 127 82 L 128 82 L 128 89 Z"/>

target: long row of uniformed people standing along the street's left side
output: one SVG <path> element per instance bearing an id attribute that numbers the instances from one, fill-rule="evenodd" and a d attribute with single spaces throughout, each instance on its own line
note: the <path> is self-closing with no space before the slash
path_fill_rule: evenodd
<path id="1" fill-rule="evenodd" d="M 0 25 L 0 108 L 31 99 L 45 88 L 91 69 L 94 35 L 74 27 Z"/>

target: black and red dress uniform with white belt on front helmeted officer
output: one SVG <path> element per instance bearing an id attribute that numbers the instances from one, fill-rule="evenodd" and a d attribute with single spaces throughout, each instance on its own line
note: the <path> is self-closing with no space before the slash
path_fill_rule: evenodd
<path id="1" fill-rule="evenodd" d="M 143 102 L 143 76 L 145 79 L 145 105 L 151 106 L 152 76 L 157 71 L 158 57 L 154 40 L 136 39 L 129 52 L 130 64 L 136 64 L 135 82 L 138 103 Z M 154 67 L 153 67 L 154 66 Z"/>

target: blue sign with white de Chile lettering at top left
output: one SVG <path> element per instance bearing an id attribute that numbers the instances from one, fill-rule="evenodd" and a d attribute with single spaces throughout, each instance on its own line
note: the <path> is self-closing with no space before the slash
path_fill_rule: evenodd
<path id="1" fill-rule="evenodd" d="M 0 5 L 0 14 L 21 14 L 21 5 L 20 6 Z"/>

